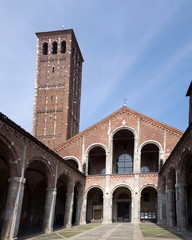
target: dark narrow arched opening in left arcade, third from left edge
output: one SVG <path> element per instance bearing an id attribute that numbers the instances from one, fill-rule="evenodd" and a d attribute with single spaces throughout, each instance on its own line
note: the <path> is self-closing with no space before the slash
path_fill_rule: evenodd
<path id="1" fill-rule="evenodd" d="M 57 180 L 57 196 L 55 205 L 54 228 L 64 226 L 67 191 L 68 191 L 68 177 L 66 175 L 61 175 Z"/>

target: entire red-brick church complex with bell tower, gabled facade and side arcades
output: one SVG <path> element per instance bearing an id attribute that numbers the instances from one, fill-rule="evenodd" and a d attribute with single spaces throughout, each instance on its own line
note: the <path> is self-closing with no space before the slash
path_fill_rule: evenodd
<path id="1" fill-rule="evenodd" d="M 183 134 L 124 105 L 79 133 L 84 60 L 75 34 L 36 35 L 33 136 L 0 115 L 1 239 L 91 222 L 186 229 L 191 125 Z"/>

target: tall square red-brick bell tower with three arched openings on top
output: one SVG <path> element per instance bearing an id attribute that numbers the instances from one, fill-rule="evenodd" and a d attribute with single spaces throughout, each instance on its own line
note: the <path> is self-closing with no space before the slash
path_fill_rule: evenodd
<path id="1" fill-rule="evenodd" d="M 83 57 L 72 29 L 36 35 L 32 133 L 53 149 L 79 133 Z"/>

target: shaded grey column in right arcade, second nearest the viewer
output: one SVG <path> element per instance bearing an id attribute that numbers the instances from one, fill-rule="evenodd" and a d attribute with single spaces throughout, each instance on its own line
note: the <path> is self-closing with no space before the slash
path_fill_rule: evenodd
<path id="1" fill-rule="evenodd" d="M 166 190 L 167 194 L 167 225 L 173 227 L 175 225 L 175 190 Z"/>

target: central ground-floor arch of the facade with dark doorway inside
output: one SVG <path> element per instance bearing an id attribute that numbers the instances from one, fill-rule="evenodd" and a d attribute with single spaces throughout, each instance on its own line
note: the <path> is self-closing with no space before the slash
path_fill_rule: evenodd
<path id="1" fill-rule="evenodd" d="M 131 191 L 119 187 L 113 193 L 113 222 L 131 222 Z"/>

